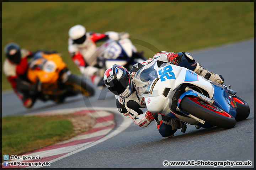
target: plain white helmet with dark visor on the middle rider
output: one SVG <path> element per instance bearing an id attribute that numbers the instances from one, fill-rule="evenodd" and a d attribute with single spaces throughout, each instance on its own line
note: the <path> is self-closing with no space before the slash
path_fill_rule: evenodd
<path id="1" fill-rule="evenodd" d="M 86 39 L 86 30 L 84 26 L 75 25 L 69 29 L 69 37 L 75 44 L 82 44 Z"/>

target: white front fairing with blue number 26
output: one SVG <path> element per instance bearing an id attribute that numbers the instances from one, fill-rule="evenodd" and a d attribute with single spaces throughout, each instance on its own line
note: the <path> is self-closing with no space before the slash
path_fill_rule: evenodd
<path id="1" fill-rule="evenodd" d="M 149 69 L 149 77 L 152 77 L 150 76 L 150 73 L 155 72 L 154 70 L 156 70 L 157 76 L 155 75 L 155 77 L 152 77 L 152 80 L 146 82 L 140 80 L 140 73 L 142 73 L 142 70 L 145 69 Z M 173 77 L 175 77 L 175 79 Z M 158 80 L 154 84 L 154 88 L 151 92 L 150 89 L 153 86 L 153 82 L 156 80 L 156 78 L 160 78 L 160 80 Z M 175 89 L 177 89 L 177 87 L 179 87 L 181 84 L 187 83 L 185 82 L 185 79 L 187 80 L 187 82 L 190 81 L 190 84 L 201 87 L 202 89 L 206 90 L 209 94 L 209 98 L 213 97 L 214 88 L 209 83 L 208 80 L 194 73 L 192 70 L 172 65 L 170 63 L 163 63 L 160 67 L 158 67 L 157 64 L 155 63 L 148 64 L 147 66 L 144 66 L 142 69 L 138 71 L 136 77 L 133 80 L 136 81 L 135 84 L 143 85 L 141 87 L 144 88 L 138 90 L 141 92 L 140 95 L 145 98 L 145 101 L 148 101 L 148 98 L 150 98 L 151 102 L 146 102 L 146 106 L 149 109 L 149 111 L 154 113 L 161 113 L 163 108 L 165 108 L 165 105 L 167 106 L 167 103 L 171 102 L 169 98 L 174 95 Z M 170 92 L 165 97 L 163 94 L 166 87 L 170 88 Z"/>

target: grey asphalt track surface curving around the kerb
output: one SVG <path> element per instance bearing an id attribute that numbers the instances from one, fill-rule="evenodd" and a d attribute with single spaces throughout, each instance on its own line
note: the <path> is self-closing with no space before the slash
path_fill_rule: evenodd
<path id="1" fill-rule="evenodd" d="M 166 50 L 166 49 L 164 49 Z M 190 51 L 188 51 L 190 52 Z M 83 151 L 57 160 L 44 168 L 213 168 L 214 166 L 164 166 L 167 161 L 248 161 L 254 167 L 254 40 L 245 40 L 211 47 L 190 54 L 211 72 L 222 74 L 225 85 L 231 85 L 237 95 L 250 106 L 249 117 L 237 122 L 232 129 L 209 128 L 197 130 L 188 125 L 186 133 L 178 130 L 174 137 L 162 137 L 155 123 L 140 128 L 132 123 L 125 130 L 106 141 Z M 106 89 L 98 90 L 95 97 L 81 95 L 67 98 L 65 103 L 37 101 L 32 109 L 23 108 L 13 92 L 2 94 L 2 116 L 78 107 L 112 107 L 113 95 Z M 116 128 L 127 119 L 115 115 Z M 132 121 L 129 119 L 128 121 Z M 222 166 L 218 166 L 222 168 Z M 225 166 L 230 168 L 230 166 Z"/>

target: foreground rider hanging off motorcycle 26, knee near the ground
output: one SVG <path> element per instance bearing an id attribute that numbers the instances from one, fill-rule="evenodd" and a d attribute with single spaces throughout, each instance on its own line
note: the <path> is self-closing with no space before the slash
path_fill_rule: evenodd
<path id="1" fill-rule="evenodd" d="M 162 115 L 160 113 L 151 113 L 149 111 L 143 112 L 140 108 L 145 108 L 146 103 L 143 97 L 140 97 L 140 92 L 133 81 L 133 77 L 137 71 L 144 66 L 162 63 L 171 63 L 187 69 L 193 70 L 195 73 L 202 75 L 204 78 L 223 84 L 224 79 L 222 75 L 214 74 L 204 69 L 201 64 L 196 62 L 189 53 L 185 52 L 167 52 L 161 51 L 156 53 L 153 58 L 134 64 L 130 72 L 120 65 L 113 65 L 108 68 L 104 74 L 104 83 L 108 90 L 116 96 L 116 106 L 119 112 L 126 117 L 134 120 L 134 123 L 140 127 L 148 126 L 151 121 L 155 120 L 158 131 L 163 137 L 171 137 L 181 129 L 183 122 L 174 118 Z"/>

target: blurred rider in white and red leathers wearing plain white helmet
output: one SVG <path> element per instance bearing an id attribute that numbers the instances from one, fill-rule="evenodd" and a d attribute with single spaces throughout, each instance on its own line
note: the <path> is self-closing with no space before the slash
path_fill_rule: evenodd
<path id="1" fill-rule="evenodd" d="M 80 72 L 85 76 L 89 76 L 92 83 L 97 86 L 103 86 L 102 77 L 98 76 L 100 74 L 98 73 L 100 66 L 97 63 L 97 57 L 100 53 L 97 51 L 96 43 L 108 39 L 118 40 L 124 38 L 129 38 L 129 34 L 113 31 L 105 33 L 86 32 L 85 27 L 78 24 L 69 29 L 68 51 Z"/>

